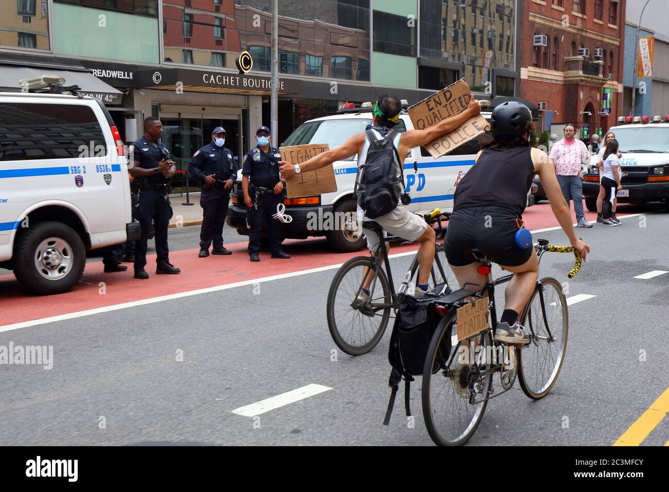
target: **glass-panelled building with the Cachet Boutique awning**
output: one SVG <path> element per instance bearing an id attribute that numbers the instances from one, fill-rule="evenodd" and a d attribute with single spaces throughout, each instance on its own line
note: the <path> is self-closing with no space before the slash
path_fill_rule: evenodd
<path id="1" fill-rule="evenodd" d="M 213 127 L 239 158 L 270 123 L 271 0 L 0 0 L 0 70 L 84 67 L 126 143 L 158 116 L 187 168 Z M 280 0 L 279 135 L 387 92 L 410 104 L 465 78 L 518 96 L 516 0 Z M 4 15 L 8 12 L 9 15 Z M 248 52 L 253 66 L 237 69 Z M 20 90 L 5 84 L 0 90 Z M 86 87 L 82 87 L 87 91 Z M 118 92 L 120 91 L 120 94 Z M 183 176 L 183 175 L 182 175 Z"/>

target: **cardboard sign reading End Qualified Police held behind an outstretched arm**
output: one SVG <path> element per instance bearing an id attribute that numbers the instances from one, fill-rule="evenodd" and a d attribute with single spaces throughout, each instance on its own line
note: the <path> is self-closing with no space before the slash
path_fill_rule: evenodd
<path id="1" fill-rule="evenodd" d="M 408 109 L 409 118 L 415 129 L 423 130 L 436 125 L 441 120 L 460 114 L 467 108 L 471 98 L 469 86 L 464 78 L 461 78 L 458 82 L 411 106 Z M 486 118 L 478 114 L 468 119 L 452 133 L 425 145 L 425 149 L 432 157 L 442 157 L 463 143 L 486 133 L 487 125 Z"/>

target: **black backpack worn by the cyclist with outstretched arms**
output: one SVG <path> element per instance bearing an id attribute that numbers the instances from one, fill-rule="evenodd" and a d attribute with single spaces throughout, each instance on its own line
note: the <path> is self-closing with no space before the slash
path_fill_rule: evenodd
<path id="1" fill-rule="evenodd" d="M 365 211 L 365 216 L 369 219 L 376 219 L 392 212 L 397 207 L 406 188 L 404 166 L 393 144 L 393 138 L 397 132 L 391 130 L 381 140 L 377 140 L 371 130 L 365 133 L 369 141 L 367 160 L 365 164 L 358 167 L 353 193 L 355 193 L 358 205 Z M 395 157 L 399 163 L 401 179 L 397 179 Z"/>

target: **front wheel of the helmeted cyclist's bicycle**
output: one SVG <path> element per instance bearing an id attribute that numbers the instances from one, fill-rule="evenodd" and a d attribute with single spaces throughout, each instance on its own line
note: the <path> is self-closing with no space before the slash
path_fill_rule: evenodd
<path id="1" fill-rule="evenodd" d="M 516 350 L 518 382 L 524 394 L 539 400 L 557 381 L 567 349 L 569 311 L 560 282 L 550 277 L 541 279 L 521 324 L 531 330 L 533 337 L 529 345 Z"/>

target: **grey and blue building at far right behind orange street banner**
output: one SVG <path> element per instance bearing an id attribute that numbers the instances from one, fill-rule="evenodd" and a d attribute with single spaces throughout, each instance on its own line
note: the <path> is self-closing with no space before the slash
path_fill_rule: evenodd
<path id="1" fill-rule="evenodd" d="M 654 46 L 650 60 L 650 74 L 647 71 L 637 72 L 636 107 L 632 110 L 634 71 L 638 66 L 637 60 L 641 51 L 637 37 L 652 38 Z M 664 0 L 627 0 L 624 67 L 622 114 L 625 116 L 660 114 L 663 118 L 669 114 L 669 3 Z"/>

